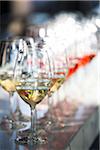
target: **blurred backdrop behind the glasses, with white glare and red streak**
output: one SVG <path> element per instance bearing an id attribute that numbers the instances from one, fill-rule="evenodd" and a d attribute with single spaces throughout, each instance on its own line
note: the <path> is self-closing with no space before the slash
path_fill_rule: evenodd
<path id="1" fill-rule="evenodd" d="M 100 81 L 99 0 L 1 0 L 1 66 L 6 47 L 6 42 L 3 43 L 3 41 L 16 36 L 29 36 L 35 42 L 38 41 L 38 38 L 48 36 L 49 40 L 47 39 L 46 46 L 52 50 L 55 58 L 58 52 L 59 54 L 65 53 L 65 55 L 60 55 L 60 62 L 63 60 L 63 56 L 66 56 L 69 71 L 67 79 L 69 80 L 58 91 L 61 100 L 67 97 L 72 102 L 79 100 L 86 105 L 100 105 L 100 101 L 98 101 L 100 97 L 98 92 L 100 90 L 98 82 Z M 1 87 L 0 91 L 0 99 L 7 98 L 7 93 Z M 54 96 L 56 101 L 57 96 Z M 15 95 L 15 99 L 17 98 Z M 23 113 L 26 111 L 28 114 L 27 104 L 23 105 L 22 101 L 19 103 L 21 111 Z M 5 111 L 8 104 L 0 106 L 5 106 L 3 109 Z M 16 108 L 14 109 L 16 110 Z"/>

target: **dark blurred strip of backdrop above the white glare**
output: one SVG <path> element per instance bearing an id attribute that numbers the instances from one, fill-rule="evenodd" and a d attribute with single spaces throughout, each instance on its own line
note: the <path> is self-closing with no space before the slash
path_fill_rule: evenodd
<path id="1" fill-rule="evenodd" d="M 61 12 L 81 13 L 81 15 L 87 17 L 91 15 L 91 13 L 97 13 L 98 6 L 99 0 L 0 1 L 0 38 L 3 39 L 12 34 L 25 35 L 28 25 L 43 23 Z"/>

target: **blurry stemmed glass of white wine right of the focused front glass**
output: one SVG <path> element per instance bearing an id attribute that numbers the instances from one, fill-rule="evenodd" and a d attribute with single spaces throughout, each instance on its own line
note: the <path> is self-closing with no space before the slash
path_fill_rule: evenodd
<path id="1" fill-rule="evenodd" d="M 54 70 L 53 70 L 53 75 L 51 76 L 51 81 L 52 81 L 51 88 L 48 93 L 49 101 L 51 101 L 49 105 L 49 116 L 51 118 L 49 120 L 49 123 L 51 124 L 50 128 L 52 129 L 55 128 L 60 129 L 62 127 L 62 124 L 60 122 L 62 116 L 57 115 L 56 105 L 57 107 L 59 106 L 59 108 L 57 109 L 63 112 L 62 107 L 60 107 L 58 90 L 66 80 L 67 65 L 66 65 L 66 61 L 64 60 L 65 60 L 64 57 L 63 57 L 63 61 L 56 58 L 54 59 L 54 64 L 52 64 L 54 65 L 54 67 L 52 67 Z M 56 99 L 54 99 L 54 94 L 56 95 Z"/>

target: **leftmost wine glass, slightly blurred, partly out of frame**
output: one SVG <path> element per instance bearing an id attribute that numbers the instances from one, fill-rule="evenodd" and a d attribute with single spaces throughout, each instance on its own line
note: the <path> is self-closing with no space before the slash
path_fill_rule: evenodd
<path id="1" fill-rule="evenodd" d="M 3 42 L 3 55 L 0 67 L 0 86 L 9 93 L 10 115 L 6 115 L 4 119 L 9 122 L 12 129 L 22 128 L 23 125 L 16 120 L 11 109 L 11 98 L 16 91 L 15 82 L 13 80 L 13 69 L 17 59 L 18 49 L 16 48 L 16 40 L 9 39 Z M 3 121 L 3 120 L 2 120 Z"/>

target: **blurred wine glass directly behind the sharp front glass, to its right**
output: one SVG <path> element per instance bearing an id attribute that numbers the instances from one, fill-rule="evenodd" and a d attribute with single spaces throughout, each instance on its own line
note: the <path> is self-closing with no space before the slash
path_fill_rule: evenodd
<path id="1" fill-rule="evenodd" d="M 64 59 L 63 59 L 64 60 Z M 52 114 L 51 114 L 51 122 L 52 123 L 52 129 L 54 128 L 58 128 L 60 129 L 62 127 L 62 107 L 61 107 L 61 100 L 60 100 L 60 95 L 59 95 L 59 91 L 60 91 L 60 87 L 63 85 L 63 83 L 66 81 L 66 76 L 67 76 L 67 65 L 66 65 L 66 61 L 63 62 L 61 60 L 56 60 L 55 61 L 55 70 L 54 70 L 54 75 L 52 76 L 52 81 L 53 81 L 53 85 L 50 89 L 50 97 L 51 97 L 51 108 L 53 110 L 51 110 Z M 55 96 L 54 96 L 55 95 Z M 56 100 L 55 98 L 56 97 Z M 58 111 L 57 111 L 58 110 Z M 60 112 L 60 113 L 59 113 Z"/>

